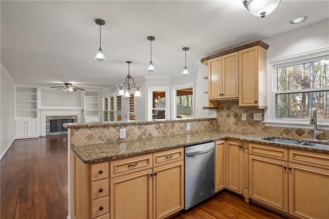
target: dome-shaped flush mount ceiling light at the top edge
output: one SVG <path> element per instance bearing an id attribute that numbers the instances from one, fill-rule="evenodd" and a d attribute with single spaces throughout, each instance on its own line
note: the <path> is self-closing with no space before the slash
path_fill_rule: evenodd
<path id="1" fill-rule="evenodd" d="M 243 5 L 255 16 L 265 17 L 274 11 L 281 0 L 242 0 Z"/>

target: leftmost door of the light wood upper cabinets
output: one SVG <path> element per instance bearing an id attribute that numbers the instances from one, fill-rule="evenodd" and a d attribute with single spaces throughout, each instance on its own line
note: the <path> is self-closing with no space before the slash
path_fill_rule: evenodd
<path id="1" fill-rule="evenodd" d="M 219 99 L 222 94 L 222 57 L 208 61 L 208 98 Z"/>

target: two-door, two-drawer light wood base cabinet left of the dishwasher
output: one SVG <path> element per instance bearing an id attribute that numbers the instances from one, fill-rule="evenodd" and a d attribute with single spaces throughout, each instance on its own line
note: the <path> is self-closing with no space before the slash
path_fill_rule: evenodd
<path id="1" fill-rule="evenodd" d="M 184 208 L 184 148 L 110 166 L 111 218 L 165 218 Z"/>

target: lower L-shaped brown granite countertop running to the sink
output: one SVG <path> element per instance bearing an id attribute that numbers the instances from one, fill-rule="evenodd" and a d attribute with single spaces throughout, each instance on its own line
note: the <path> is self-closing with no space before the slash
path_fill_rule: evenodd
<path id="1" fill-rule="evenodd" d="M 236 139 L 261 144 L 270 144 L 283 148 L 294 148 L 329 154 L 329 144 L 306 146 L 263 140 L 268 135 L 250 134 L 243 132 L 229 132 L 211 130 L 192 132 L 179 135 L 161 136 L 136 140 L 115 141 L 101 144 L 90 144 L 71 147 L 71 150 L 84 162 L 96 163 L 124 157 L 131 157 L 156 151 L 185 147 L 188 145 L 205 143 L 220 139 Z"/>

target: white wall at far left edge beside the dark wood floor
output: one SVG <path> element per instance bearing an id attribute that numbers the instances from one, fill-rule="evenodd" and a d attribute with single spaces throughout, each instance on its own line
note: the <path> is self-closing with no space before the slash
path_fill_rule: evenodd
<path id="1" fill-rule="evenodd" d="M 14 91 L 15 84 L 11 79 L 8 71 L 1 64 L 0 77 L 0 155 L 1 158 L 9 149 L 14 140 L 15 135 L 15 120 L 14 120 Z"/>

